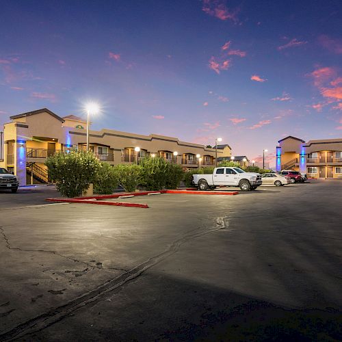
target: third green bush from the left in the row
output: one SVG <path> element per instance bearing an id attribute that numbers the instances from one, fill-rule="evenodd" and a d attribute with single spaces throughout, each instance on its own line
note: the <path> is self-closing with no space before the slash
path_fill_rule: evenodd
<path id="1" fill-rule="evenodd" d="M 133 192 L 137 189 L 142 179 L 142 168 L 135 164 L 114 166 L 114 173 L 118 179 L 118 185 L 124 188 L 126 192 Z"/>

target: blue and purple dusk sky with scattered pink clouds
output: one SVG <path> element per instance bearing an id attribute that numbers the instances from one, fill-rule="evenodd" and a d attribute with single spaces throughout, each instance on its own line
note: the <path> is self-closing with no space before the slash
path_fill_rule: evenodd
<path id="1" fill-rule="evenodd" d="M 16 1 L 0 11 L 0 129 L 47 107 L 92 129 L 215 144 L 342 137 L 342 1 Z"/>

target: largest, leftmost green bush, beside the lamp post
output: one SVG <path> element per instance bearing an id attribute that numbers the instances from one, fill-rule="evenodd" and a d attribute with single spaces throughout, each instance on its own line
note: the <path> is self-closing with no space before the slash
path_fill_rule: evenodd
<path id="1" fill-rule="evenodd" d="M 94 182 L 100 162 L 91 151 L 71 150 L 57 153 L 47 158 L 49 179 L 56 183 L 57 191 L 62 196 L 77 197 L 85 192 Z"/>

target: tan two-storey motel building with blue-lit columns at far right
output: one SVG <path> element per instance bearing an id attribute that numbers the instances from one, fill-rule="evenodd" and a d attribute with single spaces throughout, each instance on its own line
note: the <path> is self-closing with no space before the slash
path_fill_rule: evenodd
<path id="1" fill-rule="evenodd" d="M 342 138 L 304 140 L 285 137 L 276 146 L 276 170 L 295 170 L 308 177 L 342 178 Z"/>

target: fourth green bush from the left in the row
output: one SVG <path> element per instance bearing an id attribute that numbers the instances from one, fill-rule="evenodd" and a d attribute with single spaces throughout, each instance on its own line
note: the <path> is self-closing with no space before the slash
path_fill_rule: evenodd
<path id="1" fill-rule="evenodd" d="M 140 161 L 142 167 L 142 185 L 146 190 L 161 190 L 166 187 L 169 166 L 165 159 L 147 157 Z"/>

